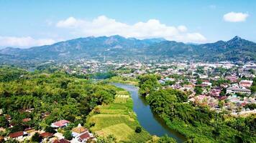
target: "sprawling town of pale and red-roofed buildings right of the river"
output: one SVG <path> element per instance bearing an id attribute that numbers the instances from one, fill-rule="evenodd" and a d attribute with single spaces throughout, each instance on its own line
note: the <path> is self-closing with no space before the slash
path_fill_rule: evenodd
<path id="1" fill-rule="evenodd" d="M 178 89 L 189 94 L 189 102 L 206 105 L 218 112 L 227 111 L 234 115 L 256 113 L 247 104 L 256 104 L 252 91 L 256 65 L 253 63 L 232 64 L 173 62 L 164 64 L 123 64 L 131 73 L 120 72 L 123 77 L 140 74 L 158 74 L 164 88 Z"/>

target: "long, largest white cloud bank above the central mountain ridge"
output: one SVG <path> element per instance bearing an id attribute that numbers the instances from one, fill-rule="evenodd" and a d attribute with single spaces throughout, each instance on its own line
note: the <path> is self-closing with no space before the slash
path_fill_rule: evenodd
<path id="1" fill-rule="evenodd" d="M 188 32 L 186 26 L 167 26 L 161 24 L 157 19 L 149 19 L 146 22 L 139 21 L 135 24 L 125 24 L 106 16 L 99 16 L 91 21 L 69 17 L 58 21 L 57 27 L 69 29 L 76 36 L 111 36 L 121 35 L 124 37 L 135 37 L 137 39 L 163 37 L 168 40 L 177 41 L 206 41 L 206 38 L 196 33 Z"/>

